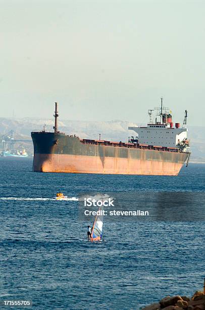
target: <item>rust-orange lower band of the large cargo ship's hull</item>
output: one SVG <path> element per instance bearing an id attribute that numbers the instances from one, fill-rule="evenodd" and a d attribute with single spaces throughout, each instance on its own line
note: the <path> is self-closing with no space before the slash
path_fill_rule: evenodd
<path id="1" fill-rule="evenodd" d="M 98 158 L 69 154 L 35 154 L 33 171 L 98 174 L 178 175 L 183 163 Z"/>

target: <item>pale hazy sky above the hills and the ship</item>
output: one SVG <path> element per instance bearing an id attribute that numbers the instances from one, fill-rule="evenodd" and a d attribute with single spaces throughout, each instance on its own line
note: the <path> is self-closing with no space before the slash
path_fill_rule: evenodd
<path id="1" fill-rule="evenodd" d="M 0 0 L 1 117 L 204 125 L 205 2 Z"/>

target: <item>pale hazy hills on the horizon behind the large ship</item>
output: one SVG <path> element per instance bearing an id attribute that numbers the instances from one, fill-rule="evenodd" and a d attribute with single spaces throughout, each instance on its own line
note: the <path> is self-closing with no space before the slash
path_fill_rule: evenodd
<path id="1" fill-rule="evenodd" d="M 98 139 L 101 134 L 102 140 L 112 141 L 127 141 L 128 137 L 135 132 L 128 130 L 128 126 L 137 126 L 137 123 L 126 121 L 110 121 L 110 122 L 86 122 L 86 121 L 59 121 L 59 130 L 67 134 L 76 134 L 84 139 Z M 32 130 L 42 130 L 45 125 L 45 130 L 53 131 L 54 120 L 37 119 L 37 118 L 22 118 L 8 119 L 0 118 L 0 135 L 6 134 L 10 130 L 14 130 L 15 139 L 31 139 L 30 133 Z M 192 162 L 205 163 L 205 127 L 189 127 L 189 138 L 191 140 L 191 160 Z M 28 152 L 33 152 L 31 143 L 19 142 L 18 145 L 25 145 Z"/>

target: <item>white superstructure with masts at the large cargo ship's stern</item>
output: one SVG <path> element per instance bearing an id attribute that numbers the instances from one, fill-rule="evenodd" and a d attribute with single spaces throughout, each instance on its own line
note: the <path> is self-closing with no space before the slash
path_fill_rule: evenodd
<path id="1" fill-rule="evenodd" d="M 172 123 L 172 115 L 167 112 L 169 108 L 163 108 L 162 104 L 160 108 L 155 108 L 160 111 L 156 115 L 155 123 L 152 121 L 152 114 L 149 110 L 148 114 L 150 117 L 147 127 L 129 127 L 128 129 L 133 130 L 137 133 L 136 141 L 142 145 L 161 146 L 167 148 L 179 148 L 180 151 L 188 151 L 189 142 L 187 140 L 187 128 L 186 118 L 187 111 L 185 111 L 184 123 L 182 128 L 180 124 L 176 123 L 175 128 Z M 165 111 L 164 111 L 165 110 Z M 160 116 L 160 122 L 157 122 L 157 117 Z"/>

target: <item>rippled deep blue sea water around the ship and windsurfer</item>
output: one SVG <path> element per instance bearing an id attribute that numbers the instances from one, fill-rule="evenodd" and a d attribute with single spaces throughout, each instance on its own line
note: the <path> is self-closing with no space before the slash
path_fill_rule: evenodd
<path id="1" fill-rule="evenodd" d="M 59 190 L 186 197 L 205 191 L 205 165 L 190 164 L 178 177 L 33 173 L 31 160 L 0 165 L 0 300 L 32 299 L 35 309 L 140 309 L 202 289 L 204 221 L 105 222 L 107 242 L 90 243 L 78 202 L 52 198 Z"/>

